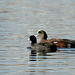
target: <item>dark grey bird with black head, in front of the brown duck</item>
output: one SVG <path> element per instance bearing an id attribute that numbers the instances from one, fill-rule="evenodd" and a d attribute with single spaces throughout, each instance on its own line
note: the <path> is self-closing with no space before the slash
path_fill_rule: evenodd
<path id="1" fill-rule="evenodd" d="M 56 52 L 57 46 L 51 42 L 41 42 L 37 43 L 37 39 L 35 35 L 31 35 L 29 37 L 29 40 L 31 41 L 31 51 L 32 53 L 38 53 L 38 52 Z"/>

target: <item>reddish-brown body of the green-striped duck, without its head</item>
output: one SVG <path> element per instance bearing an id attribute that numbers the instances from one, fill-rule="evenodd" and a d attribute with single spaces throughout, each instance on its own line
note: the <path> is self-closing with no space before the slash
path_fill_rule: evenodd
<path id="1" fill-rule="evenodd" d="M 58 48 L 75 48 L 75 40 L 70 39 L 55 39 L 41 40 L 40 42 L 51 42 L 55 44 Z"/>

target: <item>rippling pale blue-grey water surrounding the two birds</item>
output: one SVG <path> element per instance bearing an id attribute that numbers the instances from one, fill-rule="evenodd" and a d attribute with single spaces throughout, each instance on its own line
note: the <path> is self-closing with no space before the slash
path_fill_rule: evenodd
<path id="1" fill-rule="evenodd" d="M 0 0 L 0 75 L 75 75 L 75 49 L 30 55 L 39 29 L 75 39 L 75 0 Z"/>

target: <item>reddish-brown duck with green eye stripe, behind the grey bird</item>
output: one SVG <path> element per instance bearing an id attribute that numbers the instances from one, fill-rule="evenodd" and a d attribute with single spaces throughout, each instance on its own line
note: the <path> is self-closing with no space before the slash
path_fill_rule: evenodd
<path id="1" fill-rule="evenodd" d="M 48 39 L 48 35 L 44 30 L 39 30 L 37 35 L 41 38 L 40 43 L 51 42 L 55 44 L 58 48 L 75 48 L 75 40 L 71 39 Z"/>

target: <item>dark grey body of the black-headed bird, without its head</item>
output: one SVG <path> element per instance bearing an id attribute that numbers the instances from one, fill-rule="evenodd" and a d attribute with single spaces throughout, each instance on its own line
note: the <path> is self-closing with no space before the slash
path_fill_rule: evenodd
<path id="1" fill-rule="evenodd" d="M 57 46 L 53 43 L 36 43 L 31 46 L 31 50 L 36 50 L 37 52 L 55 52 Z"/>

